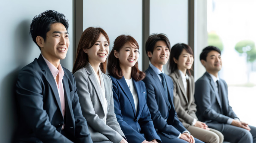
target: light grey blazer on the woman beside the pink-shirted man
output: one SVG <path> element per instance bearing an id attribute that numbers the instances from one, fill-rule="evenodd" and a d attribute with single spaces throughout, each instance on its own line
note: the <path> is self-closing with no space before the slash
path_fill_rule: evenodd
<path id="1" fill-rule="evenodd" d="M 83 116 L 87 120 L 92 141 L 110 140 L 119 143 L 125 138 L 114 113 L 112 81 L 108 75 L 102 73 L 105 97 L 108 102 L 106 124 L 102 120 L 105 116 L 100 96 L 100 86 L 89 64 L 74 73 L 77 94 Z M 126 138 L 125 138 L 126 139 Z"/>

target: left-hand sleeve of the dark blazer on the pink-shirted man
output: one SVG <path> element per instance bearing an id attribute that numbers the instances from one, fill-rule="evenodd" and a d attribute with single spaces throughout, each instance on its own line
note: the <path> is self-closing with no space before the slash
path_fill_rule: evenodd
<path id="1" fill-rule="evenodd" d="M 20 71 L 16 84 L 17 101 L 22 120 L 42 142 L 68 142 L 68 138 L 58 132 L 49 121 L 43 109 L 44 83 L 40 75 L 33 70 Z"/>

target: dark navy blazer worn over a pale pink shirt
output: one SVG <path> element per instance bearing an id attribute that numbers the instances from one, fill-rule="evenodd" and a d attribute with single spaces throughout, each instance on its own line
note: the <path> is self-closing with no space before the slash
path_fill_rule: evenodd
<path id="1" fill-rule="evenodd" d="M 92 143 L 76 93 L 75 78 L 69 70 L 62 68 L 65 73 L 62 80 L 66 106 L 64 117 L 55 79 L 42 55 L 19 72 L 16 84 L 17 142 Z M 63 131 L 65 136 L 61 133 Z"/>

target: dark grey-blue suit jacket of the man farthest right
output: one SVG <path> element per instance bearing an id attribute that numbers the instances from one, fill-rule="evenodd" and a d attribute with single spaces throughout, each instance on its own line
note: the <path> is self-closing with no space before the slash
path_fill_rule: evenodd
<path id="1" fill-rule="evenodd" d="M 223 104 L 220 103 L 220 96 L 216 85 L 208 74 L 204 75 L 195 82 L 195 103 L 197 107 L 196 115 L 198 120 L 205 123 L 227 123 L 229 118 L 238 118 L 229 106 L 228 89 L 224 80 L 220 79 Z"/>

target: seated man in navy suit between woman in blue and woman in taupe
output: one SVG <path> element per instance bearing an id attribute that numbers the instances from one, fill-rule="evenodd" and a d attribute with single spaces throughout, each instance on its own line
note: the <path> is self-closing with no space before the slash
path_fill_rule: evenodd
<path id="1" fill-rule="evenodd" d="M 150 65 L 143 80 L 147 89 L 147 105 L 155 129 L 163 143 L 201 143 L 190 135 L 177 117 L 173 106 L 173 81 L 164 74 L 170 55 L 170 42 L 164 34 L 152 34 L 146 41 Z"/>

